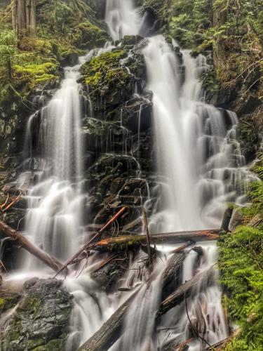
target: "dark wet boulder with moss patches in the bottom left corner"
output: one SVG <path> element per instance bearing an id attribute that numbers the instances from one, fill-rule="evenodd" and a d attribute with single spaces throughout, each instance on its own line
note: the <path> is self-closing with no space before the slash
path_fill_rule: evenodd
<path id="1" fill-rule="evenodd" d="M 20 300 L 8 307 L 15 311 L 1 335 L 6 350 L 64 350 L 72 296 L 61 281 L 30 279 L 23 286 Z"/>

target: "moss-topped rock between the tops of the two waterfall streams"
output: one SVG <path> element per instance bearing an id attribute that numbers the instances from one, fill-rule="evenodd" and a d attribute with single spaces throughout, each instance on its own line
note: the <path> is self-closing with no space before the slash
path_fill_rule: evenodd
<path id="1" fill-rule="evenodd" d="M 102 53 L 81 67 L 86 95 L 93 102 L 93 112 L 100 116 L 129 100 L 137 88 L 142 93 L 147 69 L 141 47 L 127 46 Z"/>

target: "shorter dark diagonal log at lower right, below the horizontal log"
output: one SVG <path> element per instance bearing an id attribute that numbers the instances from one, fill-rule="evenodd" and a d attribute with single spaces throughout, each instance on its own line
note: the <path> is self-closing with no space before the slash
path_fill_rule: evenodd
<path id="1" fill-rule="evenodd" d="M 201 273 L 196 274 L 188 282 L 182 284 L 177 290 L 171 293 L 163 302 L 159 308 L 159 316 L 166 313 L 171 308 L 175 307 L 182 303 L 184 298 L 187 298 L 191 293 L 194 293 L 198 284 L 203 281 L 208 282 L 209 279 L 213 277 L 213 267 L 210 267 L 208 270 L 205 270 Z M 206 286 L 206 284 L 204 284 Z"/>

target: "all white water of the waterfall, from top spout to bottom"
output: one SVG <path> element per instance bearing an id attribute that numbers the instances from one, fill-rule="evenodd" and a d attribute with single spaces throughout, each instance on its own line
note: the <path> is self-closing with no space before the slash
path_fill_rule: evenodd
<path id="1" fill-rule="evenodd" d="M 126 34 L 139 34 L 142 18 L 132 0 L 107 0 L 106 22 L 109 34 L 116 41 Z M 109 46 L 105 48 L 110 49 Z M 88 53 L 80 63 L 102 51 Z M 201 101 L 199 78 L 208 68 L 203 56 L 191 58 L 189 51 L 182 51 L 185 67 L 182 84 L 180 62 L 173 47 L 162 36 L 150 38 L 143 53 L 148 88 L 154 93 L 156 173 L 162 187 L 162 196 L 150 218 L 151 233 L 218 227 L 227 202 L 244 204 L 241 183 L 250 177 L 236 141 L 236 115 Z M 39 149 L 42 157 L 35 172 L 37 183 L 28 195 L 25 228 L 29 239 L 63 261 L 76 252 L 85 239 L 79 67 L 65 69 L 61 88 L 41 111 Z M 30 145 L 34 118 L 35 115 L 29 119 L 27 145 Z M 32 154 L 30 150 L 31 145 L 27 155 Z M 20 181 L 25 178 L 24 173 Z M 216 243 L 197 243 L 196 246 L 200 246 L 198 254 L 191 249 L 185 251 L 182 283 L 216 263 Z M 140 276 L 135 275 L 137 260 L 130 263 L 124 287 L 137 284 L 142 287 L 128 311 L 123 336 L 112 350 L 155 351 L 175 336 L 182 335 L 184 340 L 193 336 L 184 303 L 161 318 L 161 329 L 166 330 L 155 331 L 154 314 L 161 302 L 161 273 L 170 257 L 167 251 L 175 247 L 158 247 L 166 254 L 157 260 L 150 282 L 145 268 Z M 96 263 L 97 256 L 88 258 L 88 269 Z M 28 273 L 29 268 L 33 271 L 31 267 L 38 276 L 50 276 L 51 272 L 25 255 L 21 277 L 34 275 L 34 272 Z M 65 281 L 74 295 L 67 351 L 76 350 L 90 338 L 126 297 L 125 293 L 107 296 L 90 279 L 88 270 L 83 270 L 77 279 L 76 275 L 72 274 Z M 201 323 L 198 331 L 202 331 L 208 343 L 227 336 L 221 292 L 215 280 L 214 277 L 207 286 L 198 286 L 194 296 L 187 299 L 189 317 Z M 205 350 L 205 344 L 198 338 L 190 345 L 190 350 Z"/>

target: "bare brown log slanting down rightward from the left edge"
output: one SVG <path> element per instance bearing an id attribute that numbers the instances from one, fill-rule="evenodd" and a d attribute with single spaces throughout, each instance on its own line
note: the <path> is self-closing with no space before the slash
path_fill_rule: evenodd
<path id="1" fill-rule="evenodd" d="M 34 244 L 32 244 L 26 237 L 20 234 L 20 232 L 17 232 L 13 228 L 9 227 L 9 225 L 6 225 L 6 223 L 2 222 L 1 220 L 0 231 L 4 232 L 4 234 L 6 234 L 8 237 L 14 239 L 23 249 L 27 250 L 29 253 L 32 253 L 32 255 L 36 258 L 39 258 L 39 260 L 48 265 L 48 267 L 55 270 L 55 272 L 57 272 L 60 267 L 63 266 L 59 260 L 34 246 Z"/>

